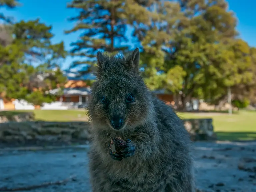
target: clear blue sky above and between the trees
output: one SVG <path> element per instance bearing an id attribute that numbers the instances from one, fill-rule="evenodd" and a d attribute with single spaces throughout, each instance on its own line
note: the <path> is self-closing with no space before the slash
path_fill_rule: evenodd
<path id="1" fill-rule="evenodd" d="M 21 19 L 30 20 L 40 18 L 47 25 L 53 26 L 53 43 L 65 42 L 65 47 L 69 50 L 70 43 L 78 39 L 79 34 L 64 34 L 64 30 L 71 29 L 74 23 L 68 22 L 67 18 L 76 15 L 76 11 L 67 9 L 66 5 L 71 0 L 20 0 L 22 6 L 14 10 L 4 10 L 1 12 L 13 16 L 16 21 Z M 54 3 L 53 3 L 54 2 Z M 237 30 L 242 39 L 250 46 L 256 47 L 256 1 L 255 0 L 228 0 L 229 9 L 235 12 L 238 18 Z M 58 8 L 58 9 L 56 9 Z M 72 58 L 68 57 L 62 65 L 63 69 L 68 68 Z"/>

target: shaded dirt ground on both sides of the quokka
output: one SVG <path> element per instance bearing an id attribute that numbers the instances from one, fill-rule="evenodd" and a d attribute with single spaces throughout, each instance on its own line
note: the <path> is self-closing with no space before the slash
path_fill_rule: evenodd
<path id="1" fill-rule="evenodd" d="M 0 191 L 90 192 L 87 151 L 0 149 Z M 256 142 L 196 142 L 193 155 L 198 191 L 256 192 Z"/>

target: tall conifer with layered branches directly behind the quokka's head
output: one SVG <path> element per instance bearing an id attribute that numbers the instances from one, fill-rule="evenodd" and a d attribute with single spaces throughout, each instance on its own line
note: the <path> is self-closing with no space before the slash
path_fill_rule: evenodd
<path id="1" fill-rule="evenodd" d="M 70 67 L 86 64 L 82 73 L 90 73 L 97 51 L 124 53 L 129 50 L 127 26 L 135 20 L 137 23 L 149 21 L 149 11 L 139 3 L 134 0 L 73 0 L 68 4 L 68 8 L 80 11 L 79 15 L 69 18 L 77 24 L 66 31 L 66 34 L 81 31 L 79 40 L 71 44 L 71 55 L 83 58 Z"/>

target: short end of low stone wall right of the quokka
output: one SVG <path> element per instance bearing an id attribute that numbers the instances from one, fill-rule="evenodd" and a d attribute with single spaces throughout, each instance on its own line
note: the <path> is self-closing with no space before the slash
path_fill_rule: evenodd
<path id="1" fill-rule="evenodd" d="M 183 119 L 183 121 L 185 128 L 190 133 L 192 141 L 217 140 L 211 118 Z"/>

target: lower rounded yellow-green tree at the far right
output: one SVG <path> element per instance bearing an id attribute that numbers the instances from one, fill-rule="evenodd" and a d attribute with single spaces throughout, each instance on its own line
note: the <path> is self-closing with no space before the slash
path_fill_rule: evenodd
<path id="1" fill-rule="evenodd" d="M 219 46 L 218 52 L 213 52 L 212 55 L 216 59 L 207 69 L 209 85 L 206 86 L 208 94 L 204 94 L 204 97 L 214 104 L 221 100 L 227 101 L 227 89 L 231 87 L 233 99 L 244 100 L 247 87 L 245 85 L 251 84 L 253 78 L 248 44 L 241 39 L 236 39 L 228 46 Z"/>

